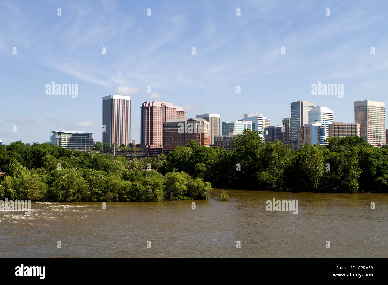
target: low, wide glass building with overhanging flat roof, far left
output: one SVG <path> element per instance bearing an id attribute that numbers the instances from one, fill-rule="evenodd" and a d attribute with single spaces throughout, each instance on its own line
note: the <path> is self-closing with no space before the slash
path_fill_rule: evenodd
<path id="1" fill-rule="evenodd" d="M 92 133 L 83 131 L 52 131 L 50 144 L 65 149 L 87 150 L 93 147 Z"/>

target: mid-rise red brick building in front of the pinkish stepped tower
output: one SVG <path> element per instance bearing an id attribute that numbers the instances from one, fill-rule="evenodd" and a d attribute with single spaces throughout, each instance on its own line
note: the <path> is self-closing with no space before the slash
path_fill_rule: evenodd
<path id="1" fill-rule="evenodd" d="M 191 140 L 198 145 L 210 145 L 210 123 L 202 118 L 168 119 L 163 123 L 163 136 L 165 149 L 175 149 L 178 145 L 183 147 Z"/>

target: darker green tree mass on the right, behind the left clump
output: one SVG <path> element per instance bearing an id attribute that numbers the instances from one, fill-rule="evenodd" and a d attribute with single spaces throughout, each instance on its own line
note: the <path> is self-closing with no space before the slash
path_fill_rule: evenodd
<path id="1" fill-rule="evenodd" d="M 372 147 L 363 138 L 329 138 L 326 147 L 304 145 L 293 151 L 282 142 L 263 143 L 244 130 L 234 150 L 191 141 L 171 151 L 158 167 L 162 174 L 185 171 L 213 187 L 304 192 L 388 192 L 388 146 Z M 240 170 L 237 170 L 240 169 Z"/>

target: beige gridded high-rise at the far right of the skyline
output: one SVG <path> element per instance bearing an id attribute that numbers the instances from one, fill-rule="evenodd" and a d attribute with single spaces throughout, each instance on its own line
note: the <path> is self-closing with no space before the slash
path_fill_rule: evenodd
<path id="1" fill-rule="evenodd" d="M 377 147 L 385 142 L 385 103 L 377 101 L 354 102 L 354 123 L 360 124 L 360 136 Z"/>

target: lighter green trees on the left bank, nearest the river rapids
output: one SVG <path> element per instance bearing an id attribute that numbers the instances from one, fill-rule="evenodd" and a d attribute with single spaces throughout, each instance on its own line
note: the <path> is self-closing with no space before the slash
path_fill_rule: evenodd
<path id="1" fill-rule="evenodd" d="M 125 165 L 122 155 L 116 158 Z M 45 201 L 161 201 L 209 199 L 210 183 L 185 172 L 133 171 L 111 154 L 90 154 L 49 143 L 0 145 L 0 199 Z"/>

